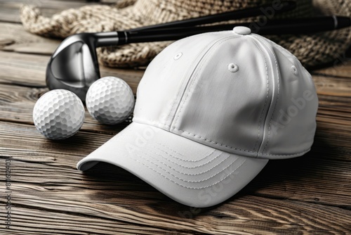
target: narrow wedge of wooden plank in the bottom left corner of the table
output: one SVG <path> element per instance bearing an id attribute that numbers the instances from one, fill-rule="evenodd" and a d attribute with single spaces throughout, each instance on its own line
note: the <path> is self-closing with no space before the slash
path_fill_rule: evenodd
<path id="1" fill-rule="evenodd" d="M 10 234 L 189 234 L 171 228 L 135 226 L 119 220 L 84 217 L 69 212 L 43 212 L 37 208 L 16 207 L 13 218 L 15 225 Z M 1 232 L 9 234 L 2 227 Z"/>

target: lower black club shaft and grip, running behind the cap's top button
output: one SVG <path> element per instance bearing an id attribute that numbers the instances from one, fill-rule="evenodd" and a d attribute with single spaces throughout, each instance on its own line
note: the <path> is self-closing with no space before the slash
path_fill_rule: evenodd
<path id="1" fill-rule="evenodd" d="M 262 26 L 261 26 L 262 25 Z M 159 42 L 168 40 L 177 40 L 189 37 L 194 34 L 204 32 L 215 32 L 221 30 L 232 30 L 236 26 L 250 27 L 251 31 L 261 35 L 279 35 L 279 34 L 312 34 L 329 30 L 337 30 L 343 27 L 350 27 L 351 19 L 341 16 L 326 16 L 318 18 L 300 18 L 270 20 L 264 24 L 256 23 L 239 23 L 225 25 L 211 25 L 199 27 L 172 27 L 165 29 L 117 31 L 118 45 L 136 43 L 136 42 Z"/>

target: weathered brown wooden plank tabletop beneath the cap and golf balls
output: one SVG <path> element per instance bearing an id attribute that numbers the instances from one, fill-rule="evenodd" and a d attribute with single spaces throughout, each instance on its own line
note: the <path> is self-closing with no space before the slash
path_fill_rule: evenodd
<path id="1" fill-rule="evenodd" d="M 71 139 L 50 141 L 37 132 L 32 108 L 48 91 L 46 63 L 60 42 L 22 29 L 22 2 L 0 1 L 0 234 L 351 234 L 350 55 L 311 71 L 319 111 L 310 153 L 270 161 L 225 203 L 189 208 L 118 167 L 76 169 L 128 122 L 104 126 L 86 113 Z M 48 15 L 86 4 L 38 2 Z M 135 92 L 143 71 L 102 68 L 102 75 L 121 77 Z M 5 204 L 6 160 L 11 210 Z"/>

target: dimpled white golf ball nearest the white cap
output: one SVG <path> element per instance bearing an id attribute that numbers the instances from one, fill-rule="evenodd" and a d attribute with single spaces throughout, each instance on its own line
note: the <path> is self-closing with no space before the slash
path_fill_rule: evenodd
<path id="1" fill-rule="evenodd" d="M 133 91 L 118 77 L 102 77 L 89 87 L 86 108 L 95 120 L 103 124 L 123 122 L 134 108 Z"/>

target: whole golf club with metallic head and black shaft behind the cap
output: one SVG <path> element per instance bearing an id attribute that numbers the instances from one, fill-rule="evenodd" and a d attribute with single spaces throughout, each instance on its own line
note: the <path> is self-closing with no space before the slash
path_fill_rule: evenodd
<path id="1" fill-rule="evenodd" d="M 261 9 L 265 9 L 263 6 Z M 190 19 L 181 23 L 166 23 L 164 25 L 152 25 L 139 29 L 81 33 L 67 37 L 53 53 L 46 68 L 46 84 L 49 89 L 68 89 L 85 100 L 88 87 L 100 78 L 96 47 L 117 46 L 136 42 L 158 42 L 173 41 L 184 37 L 200 34 L 204 32 L 218 32 L 222 30 L 232 30 L 236 26 L 246 26 L 251 28 L 251 32 L 258 34 L 312 34 L 328 30 L 337 30 L 343 27 L 350 27 L 351 20 L 347 17 L 328 16 L 321 18 L 267 20 L 258 18 L 258 22 L 194 26 L 198 24 L 208 24 L 230 20 L 234 18 L 262 15 L 263 11 L 256 13 L 235 14 L 231 17 L 209 15 L 202 20 Z M 254 11 L 253 11 L 254 12 Z M 247 12 L 246 12 L 247 13 Z M 233 16 L 234 14 L 234 16 Z M 240 16 L 239 16 L 240 15 Z M 249 15 L 249 16 L 248 16 Z"/>

